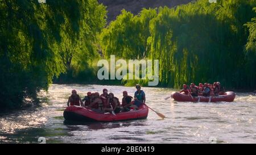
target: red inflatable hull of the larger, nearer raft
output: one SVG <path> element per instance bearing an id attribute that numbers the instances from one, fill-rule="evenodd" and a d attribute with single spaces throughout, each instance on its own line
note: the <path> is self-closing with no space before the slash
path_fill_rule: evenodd
<path id="1" fill-rule="evenodd" d="M 147 115 L 148 107 L 145 105 L 139 107 L 138 110 L 119 112 L 115 115 L 109 113 L 100 114 L 80 106 L 67 107 L 63 112 L 65 120 L 75 120 L 83 122 L 112 122 L 119 120 L 146 119 Z"/>

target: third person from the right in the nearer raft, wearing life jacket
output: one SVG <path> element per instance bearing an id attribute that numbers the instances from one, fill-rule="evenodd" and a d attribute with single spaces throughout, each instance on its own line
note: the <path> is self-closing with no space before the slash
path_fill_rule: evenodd
<path id="1" fill-rule="evenodd" d="M 121 104 L 119 102 L 119 99 L 117 97 L 114 97 L 113 93 L 109 93 L 109 97 L 107 99 L 107 105 L 108 107 L 106 108 L 106 111 L 114 111 L 115 113 L 119 113 L 121 108 Z"/>

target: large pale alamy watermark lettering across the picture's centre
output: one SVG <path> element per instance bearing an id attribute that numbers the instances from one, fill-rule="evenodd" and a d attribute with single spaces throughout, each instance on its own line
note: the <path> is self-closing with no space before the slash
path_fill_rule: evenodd
<path id="1" fill-rule="evenodd" d="M 98 61 L 97 77 L 98 79 L 148 79 L 148 86 L 156 86 L 159 83 L 159 60 L 126 60 L 119 59 L 115 61 L 115 56 L 110 56 L 110 64 L 108 60 L 102 59 Z M 152 69 L 154 67 L 154 70 Z M 110 69 L 109 69 L 110 68 Z M 118 69 L 116 69 L 118 68 Z M 110 73 L 110 74 L 109 74 Z M 110 78 L 109 78 L 110 75 Z"/>

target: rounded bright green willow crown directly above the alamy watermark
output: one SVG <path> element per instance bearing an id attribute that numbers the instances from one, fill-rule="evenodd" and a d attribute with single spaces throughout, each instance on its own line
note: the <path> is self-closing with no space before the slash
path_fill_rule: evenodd
<path id="1" fill-rule="evenodd" d="M 106 58 L 115 55 L 122 58 L 143 58 L 149 47 L 148 23 L 156 16 L 156 10 L 143 9 L 139 15 L 122 10 L 121 15 L 105 28 L 100 36 L 101 48 Z"/>

